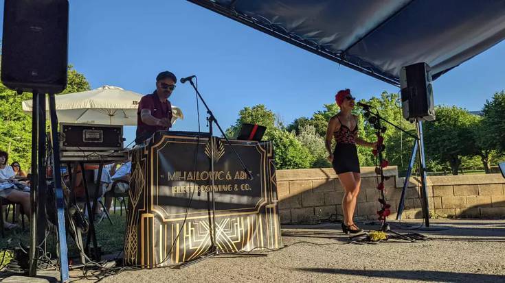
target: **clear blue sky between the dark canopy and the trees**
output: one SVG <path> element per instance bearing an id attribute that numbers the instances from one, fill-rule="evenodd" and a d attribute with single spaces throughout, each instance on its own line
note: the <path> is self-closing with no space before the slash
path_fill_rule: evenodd
<path id="1" fill-rule="evenodd" d="M 437 79 L 436 103 L 480 110 L 505 88 L 503 58 L 505 42 Z M 199 90 L 223 130 L 240 109 L 258 103 L 289 124 L 333 103 L 341 88 L 360 99 L 399 91 L 183 0 L 70 0 L 69 63 L 91 88 L 108 84 L 143 94 L 154 90 L 159 71 L 198 75 Z M 179 83 L 170 100 L 186 116 L 173 130 L 197 130 L 190 85 Z M 201 125 L 206 131 L 202 108 Z M 134 132 L 125 128 L 128 143 Z"/>

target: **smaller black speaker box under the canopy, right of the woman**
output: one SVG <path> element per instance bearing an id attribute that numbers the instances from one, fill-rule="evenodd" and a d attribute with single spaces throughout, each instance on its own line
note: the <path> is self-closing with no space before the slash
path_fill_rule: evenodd
<path id="1" fill-rule="evenodd" d="M 400 88 L 403 117 L 409 121 L 435 120 L 431 69 L 426 63 L 402 67 Z"/>

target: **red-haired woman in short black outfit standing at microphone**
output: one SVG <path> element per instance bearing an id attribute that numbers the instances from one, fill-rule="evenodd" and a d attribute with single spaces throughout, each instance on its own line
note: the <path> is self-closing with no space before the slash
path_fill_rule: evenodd
<path id="1" fill-rule="evenodd" d="M 344 199 L 342 199 L 342 210 L 344 221 L 342 231 L 344 233 L 359 234 L 363 232 L 352 220 L 356 201 L 361 184 L 359 171 L 359 160 L 356 145 L 372 147 L 375 149 L 377 143 L 368 143 L 358 137 L 358 125 L 356 116 L 351 113 L 355 106 L 355 97 L 352 97 L 350 90 L 340 90 L 335 95 L 340 112 L 331 117 L 326 130 L 326 150 L 328 150 L 328 160 L 333 164 L 335 173 L 339 176 L 340 184 L 344 187 Z M 335 149 L 331 149 L 331 140 L 335 138 Z"/>

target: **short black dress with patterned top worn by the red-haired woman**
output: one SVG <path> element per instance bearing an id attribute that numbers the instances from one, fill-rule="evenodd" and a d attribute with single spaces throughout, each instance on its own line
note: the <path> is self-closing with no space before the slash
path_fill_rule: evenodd
<path id="1" fill-rule="evenodd" d="M 339 117 L 337 116 L 337 119 Z M 337 141 L 335 150 L 333 150 L 333 169 L 335 173 L 356 172 L 359 173 L 358 151 L 356 148 L 355 134 L 358 130 L 357 125 L 354 130 L 350 130 L 340 119 L 340 130 L 333 133 Z"/>

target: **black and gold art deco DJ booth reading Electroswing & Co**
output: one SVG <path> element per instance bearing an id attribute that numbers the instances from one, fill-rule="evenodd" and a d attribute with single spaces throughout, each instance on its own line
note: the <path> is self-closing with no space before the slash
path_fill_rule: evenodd
<path id="1" fill-rule="evenodd" d="M 158 132 L 133 149 L 125 264 L 187 262 L 213 239 L 221 252 L 282 247 L 272 143 L 231 141 L 251 179 L 224 138 L 214 137 L 212 173 L 210 141 L 205 133 Z"/>

